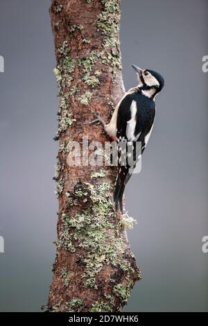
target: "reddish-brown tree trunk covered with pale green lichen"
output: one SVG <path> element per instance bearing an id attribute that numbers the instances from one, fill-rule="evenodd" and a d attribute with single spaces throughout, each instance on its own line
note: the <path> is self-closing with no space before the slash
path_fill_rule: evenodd
<path id="1" fill-rule="evenodd" d="M 114 209 L 116 169 L 69 164 L 69 141 L 110 141 L 103 126 L 85 123 L 96 111 L 108 121 L 124 94 L 119 2 L 57 0 L 50 9 L 60 146 L 55 175 L 58 241 L 48 311 L 121 311 L 140 279 L 123 230 L 131 220 Z M 92 146 L 89 153 L 94 151 Z"/>

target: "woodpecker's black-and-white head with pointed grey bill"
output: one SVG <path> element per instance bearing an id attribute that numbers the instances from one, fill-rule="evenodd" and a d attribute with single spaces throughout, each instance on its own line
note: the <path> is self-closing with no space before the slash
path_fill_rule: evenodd
<path id="1" fill-rule="evenodd" d="M 137 72 L 139 79 L 138 87 L 141 89 L 141 92 L 149 98 L 155 98 L 164 87 L 164 78 L 154 70 L 141 69 L 135 65 L 132 65 L 132 68 Z"/>

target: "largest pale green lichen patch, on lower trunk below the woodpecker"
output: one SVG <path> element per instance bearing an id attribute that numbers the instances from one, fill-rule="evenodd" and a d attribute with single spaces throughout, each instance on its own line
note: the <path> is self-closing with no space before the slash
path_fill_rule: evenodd
<path id="1" fill-rule="evenodd" d="M 98 289 L 96 275 L 104 265 L 119 266 L 122 273 L 130 273 L 131 267 L 124 266 L 122 255 L 124 243 L 114 219 L 112 187 L 107 183 L 96 185 L 87 182 L 79 184 L 73 193 L 68 193 L 70 205 L 79 205 L 87 199 L 85 210 L 76 214 L 62 214 L 62 232 L 58 246 L 71 252 L 85 250 L 80 259 L 85 265 L 84 286 Z M 81 205 L 80 205 L 81 207 Z"/>

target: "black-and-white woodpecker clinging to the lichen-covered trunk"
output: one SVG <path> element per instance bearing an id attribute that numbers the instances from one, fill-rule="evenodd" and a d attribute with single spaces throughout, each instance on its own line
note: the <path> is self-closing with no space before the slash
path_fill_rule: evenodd
<path id="1" fill-rule="evenodd" d="M 116 185 L 114 189 L 114 201 L 116 210 L 123 212 L 123 192 L 125 185 L 132 175 L 137 162 L 140 160 L 150 134 L 153 130 L 155 122 L 155 96 L 164 87 L 164 78 L 156 71 L 150 69 L 141 69 L 135 65 L 132 65 L 135 69 L 139 83 L 137 87 L 129 89 L 125 93 L 121 101 L 112 114 L 110 123 L 106 124 L 101 119 L 98 112 L 95 114 L 96 119 L 90 123 L 100 121 L 112 139 L 116 139 L 118 143 L 118 173 L 116 178 Z M 141 142 L 141 151 L 138 155 L 137 141 Z M 123 151 L 122 144 L 125 144 L 126 151 Z M 132 154 L 128 153 L 128 146 L 132 146 Z M 124 153 L 125 152 L 125 153 Z M 124 153 L 124 159 L 126 156 L 133 155 L 132 166 L 126 162 L 123 165 L 121 156 Z M 128 154 L 126 154 L 128 153 Z M 128 161 L 128 160 L 127 160 Z"/>

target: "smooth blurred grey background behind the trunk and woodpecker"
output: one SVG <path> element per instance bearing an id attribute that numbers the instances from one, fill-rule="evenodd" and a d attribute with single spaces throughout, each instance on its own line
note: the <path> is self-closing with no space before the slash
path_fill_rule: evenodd
<path id="1" fill-rule="evenodd" d="M 57 87 L 50 0 L 0 0 L 0 310 L 40 311 L 55 257 Z M 208 311 L 207 0 L 121 1 L 123 79 L 134 63 L 166 86 L 143 168 L 126 190 L 143 280 L 125 311 Z"/>

